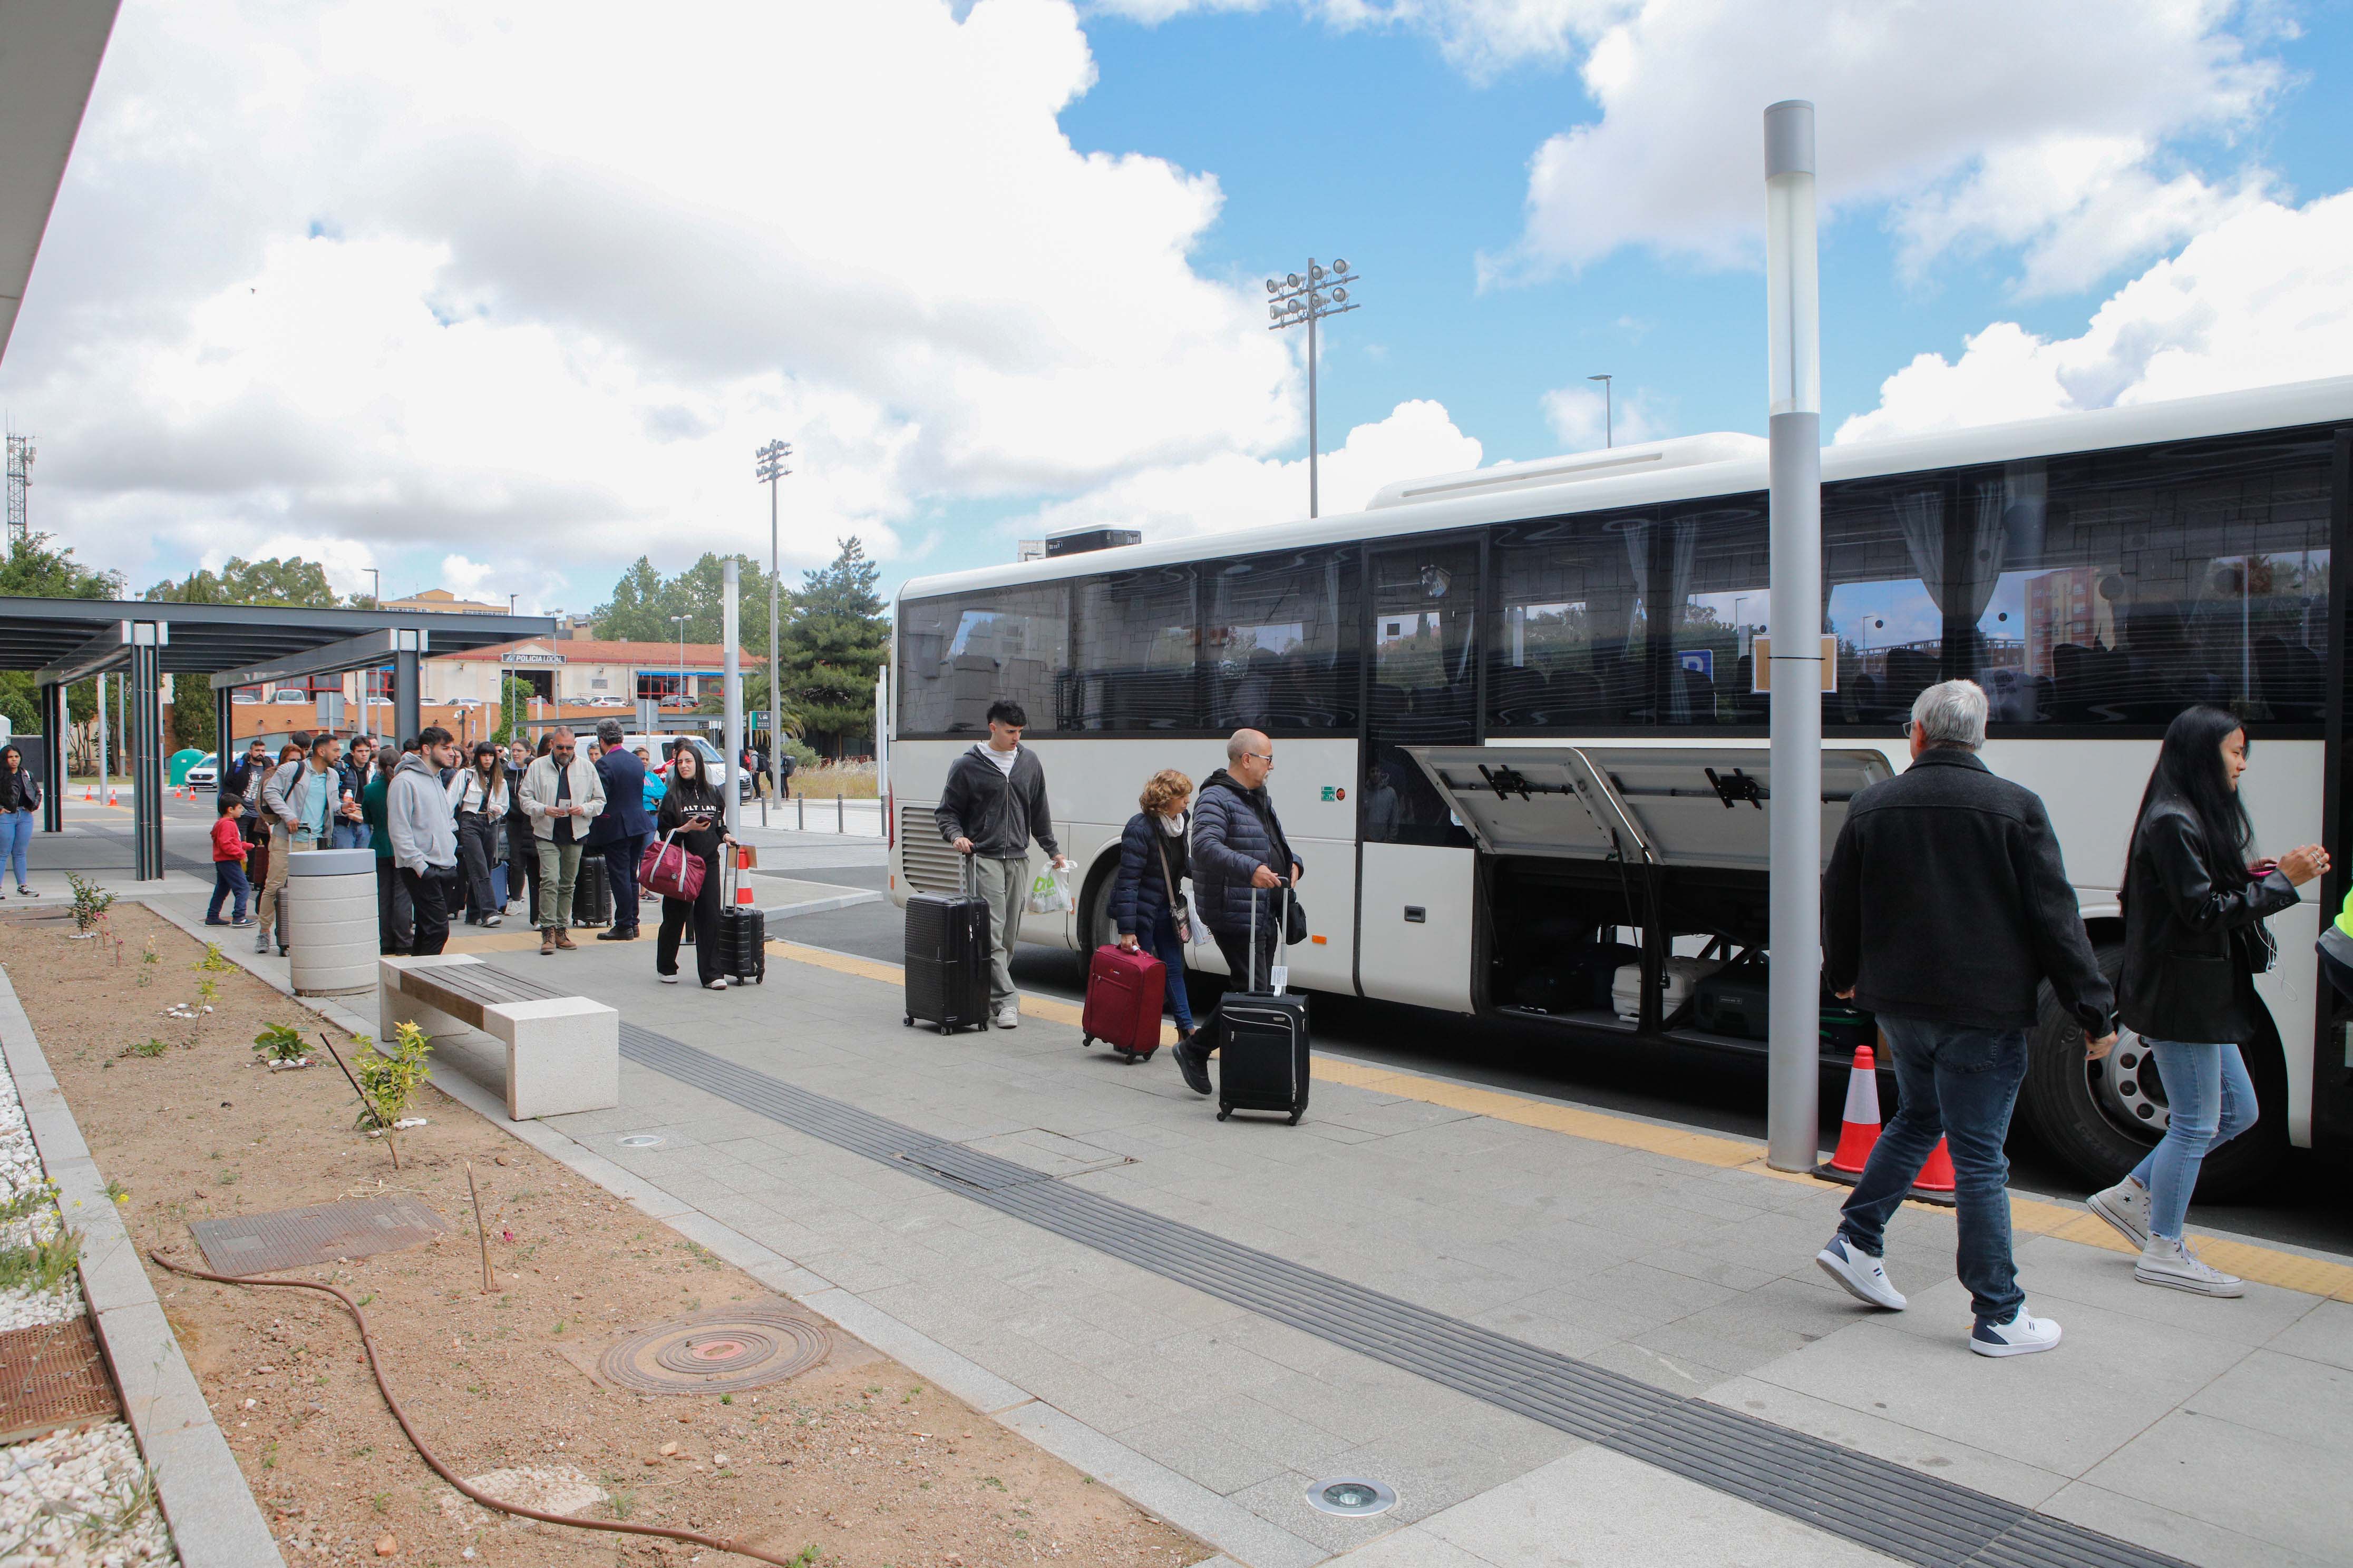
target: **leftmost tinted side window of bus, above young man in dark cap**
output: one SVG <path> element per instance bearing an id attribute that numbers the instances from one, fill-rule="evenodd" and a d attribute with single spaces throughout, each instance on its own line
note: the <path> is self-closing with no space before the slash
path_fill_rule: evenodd
<path id="1" fill-rule="evenodd" d="M 908 599 L 899 621 L 899 733 L 981 733 L 998 698 L 1021 703 L 1038 733 L 1064 729 L 1068 644 L 1068 583 Z"/>

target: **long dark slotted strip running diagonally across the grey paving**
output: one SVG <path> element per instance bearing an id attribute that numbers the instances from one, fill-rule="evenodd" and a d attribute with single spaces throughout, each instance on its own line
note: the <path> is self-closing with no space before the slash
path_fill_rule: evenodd
<path id="1" fill-rule="evenodd" d="M 962 1192 L 974 1204 L 1082 1241 L 1162 1279 L 1899 1561 L 1922 1568 L 2188 1568 L 2179 1559 L 2017 1502 L 1722 1406 L 1680 1399 L 1082 1187 L 1040 1180 L 1035 1171 L 993 1154 L 967 1150 L 972 1164 L 960 1166 L 962 1175 L 939 1173 L 906 1159 L 939 1150 L 939 1138 L 626 1020 L 621 1053 L 729 1105 Z M 972 1180 L 974 1173 L 986 1180 Z"/>

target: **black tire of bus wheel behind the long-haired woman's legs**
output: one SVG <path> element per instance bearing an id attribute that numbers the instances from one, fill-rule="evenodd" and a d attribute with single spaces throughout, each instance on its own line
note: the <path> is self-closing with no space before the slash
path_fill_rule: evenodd
<path id="1" fill-rule="evenodd" d="M 2113 985 L 2125 966 L 2122 945 L 2099 943 L 2094 952 L 2101 973 Z M 2158 1133 L 2127 1124 L 2120 1110 L 2139 1100 L 2162 1105 L 2155 1063 L 2148 1060 L 2139 1067 L 2139 1084 L 2129 1098 L 2104 1095 L 2099 1074 L 2113 1070 L 2115 1053 L 2108 1063 L 2085 1060 L 2082 1025 L 2059 1006 L 2059 997 L 2047 983 L 2035 997 L 2035 1027 L 2026 1044 L 2026 1084 L 2019 1093 L 2026 1126 L 2092 1190 L 2122 1180 L 2158 1143 Z M 2245 1056 L 2261 1117 L 2247 1133 L 2205 1157 L 2198 1173 L 2198 1197 L 2207 1201 L 2261 1190 L 2287 1154 L 2287 1079 L 2280 1070 L 2278 1041 L 2257 1041 Z"/>

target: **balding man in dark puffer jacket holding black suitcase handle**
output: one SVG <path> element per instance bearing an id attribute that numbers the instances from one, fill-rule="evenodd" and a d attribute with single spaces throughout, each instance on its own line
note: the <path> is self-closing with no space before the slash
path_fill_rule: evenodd
<path id="1" fill-rule="evenodd" d="M 1282 818 L 1266 792 L 1275 771 L 1275 743 L 1257 729 L 1238 729 L 1226 741 L 1226 766 L 1209 773 L 1193 806 L 1193 886 L 1200 891 L 1200 917 L 1209 922 L 1217 950 L 1226 954 L 1233 985 L 1264 992 L 1275 961 L 1275 922 L 1282 919 L 1282 896 L 1271 889 L 1297 884 L 1306 875 Z M 1257 922 L 1252 922 L 1257 910 Z M 1257 943 L 1252 943 L 1257 931 Z M 1176 1070 L 1193 1093 L 1209 1093 L 1209 1051 L 1214 1041 L 1193 1037 L 1176 1046 Z"/>

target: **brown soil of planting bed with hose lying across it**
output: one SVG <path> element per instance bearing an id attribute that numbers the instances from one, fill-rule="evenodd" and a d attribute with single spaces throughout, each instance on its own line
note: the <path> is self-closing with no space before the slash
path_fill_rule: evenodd
<path id="1" fill-rule="evenodd" d="M 685 1526 L 805 1563 L 1089 1568 L 1209 1549 L 840 1331 L 819 1366 L 736 1394 L 638 1394 L 584 1368 L 619 1335 L 720 1307 L 779 1307 L 748 1274 L 515 1143 L 431 1086 L 400 1135 L 355 1131 L 325 1053 L 268 1072 L 266 1025 L 327 1025 L 139 905 L 113 940 L 7 922 L 5 966 L 99 1168 L 129 1190 L 141 1251 L 209 1267 L 207 1218 L 407 1194 L 435 1241 L 287 1269 L 365 1307 L 393 1392 L 456 1474 L 584 1519 Z M 224 931 L 242 938 L 242 931 Z M 153 952 L 153 961 L 146 954 Z M 172 1018 L 212 978 L 214 1011 Z M 346 1060 L 353 1041 L 327 1030 Z M 153 1044 L 151 1044 L 153 1041 Z M 494 1291 L 466 1197 L 482 1190 Z M 289 1563 L 727 1563 L 708 1549 L 518 1523 L 416 1458 L 351 1316 L 313 1291 L 221 1286 L 148 1262 L 165 1314 Z M 482 1481 L 492 1472 L 508 1472 Z M 548 1502 L 553 1497 L 553 1502 Z M 574 1507 L 576 1505 L 576 1507 Z"/>

